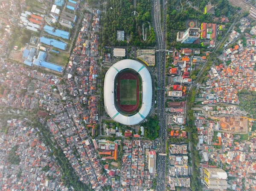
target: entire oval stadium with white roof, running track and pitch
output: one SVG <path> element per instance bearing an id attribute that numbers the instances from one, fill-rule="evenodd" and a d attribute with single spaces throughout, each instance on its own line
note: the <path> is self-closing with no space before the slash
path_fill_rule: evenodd
<path id="1" fill-rule="evenodd" d="M 138 124 L 148 115 L 151 101 L 151 76 L 143 64 L 126 59 L 108 69 L 104 104 L 113 120 L 125 125 Z"/>

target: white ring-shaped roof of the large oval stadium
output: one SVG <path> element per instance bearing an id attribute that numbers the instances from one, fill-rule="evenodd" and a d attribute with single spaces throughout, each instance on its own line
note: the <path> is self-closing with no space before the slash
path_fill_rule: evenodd
<path id="1" fill-rule="evenodd" d="M 134 69 L 138 72 L 142 78 L 142 106 L 138 113 L 133 116 L 124 116 L 116 110 L 114 104 L 114 81 L 116 75 L 123 69 Z M 110 69 L 108 69 L 105 75 L 104 81 L 104 104 L 108 115 L 111 116 L 116 122 L 125 125 L 134 125 L 140 123 L 148 115 L 151 109 L 152 101 L 152 82 L 151 76 L 148 69 L 138 61 L 131 59 L 125 59 L 114 64 Z"/>

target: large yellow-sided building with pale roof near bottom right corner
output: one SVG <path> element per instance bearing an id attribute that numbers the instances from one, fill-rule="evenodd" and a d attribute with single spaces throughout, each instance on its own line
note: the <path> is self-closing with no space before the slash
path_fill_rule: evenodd
<path id="1" fill-rule="evenodd" d="M 204 168 L 204 184 L 209 189 L 226 190 L 227 173 L 221 168 Z"/>

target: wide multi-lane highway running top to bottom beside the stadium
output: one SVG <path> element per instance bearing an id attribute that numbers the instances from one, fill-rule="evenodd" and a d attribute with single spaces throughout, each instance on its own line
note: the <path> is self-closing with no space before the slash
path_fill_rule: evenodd
<path id="1" fill-rule="evenodd" d="M 161 10 L 160 3 L 162 3 L 163 12 L 161 23 Z M 164 6 L 163 6 L 164 5 Z M 152 18 L 153 27 L 156 33 L 156 46 L 158 50 L 165 50 L 165 36 L 166 36 L 166 0 L 160 2 L 160 0 L 152 0 Z M 163 24 L 163 29 L 162 25 Z M 163 33 L 164 32 L 164 33 Z M 158 153 L 166 152 L 166 116 L 165 116 L 165 67 L 166 67 L 166 52 L 156 52 L 157 60 L 157 115 L 159 120 L 159 149 Z M 165 191 L 166 188 L 166 156 L 157 155 L 157 190 Z"/>

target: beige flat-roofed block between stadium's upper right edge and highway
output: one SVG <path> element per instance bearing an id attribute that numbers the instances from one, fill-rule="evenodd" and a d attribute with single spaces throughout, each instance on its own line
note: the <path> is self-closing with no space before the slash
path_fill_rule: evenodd
<path id="1" fill-rule="evenodd" d="M 152 67 L 155 65 L 155 49 L 138 49 L 137 58 Z"/>

